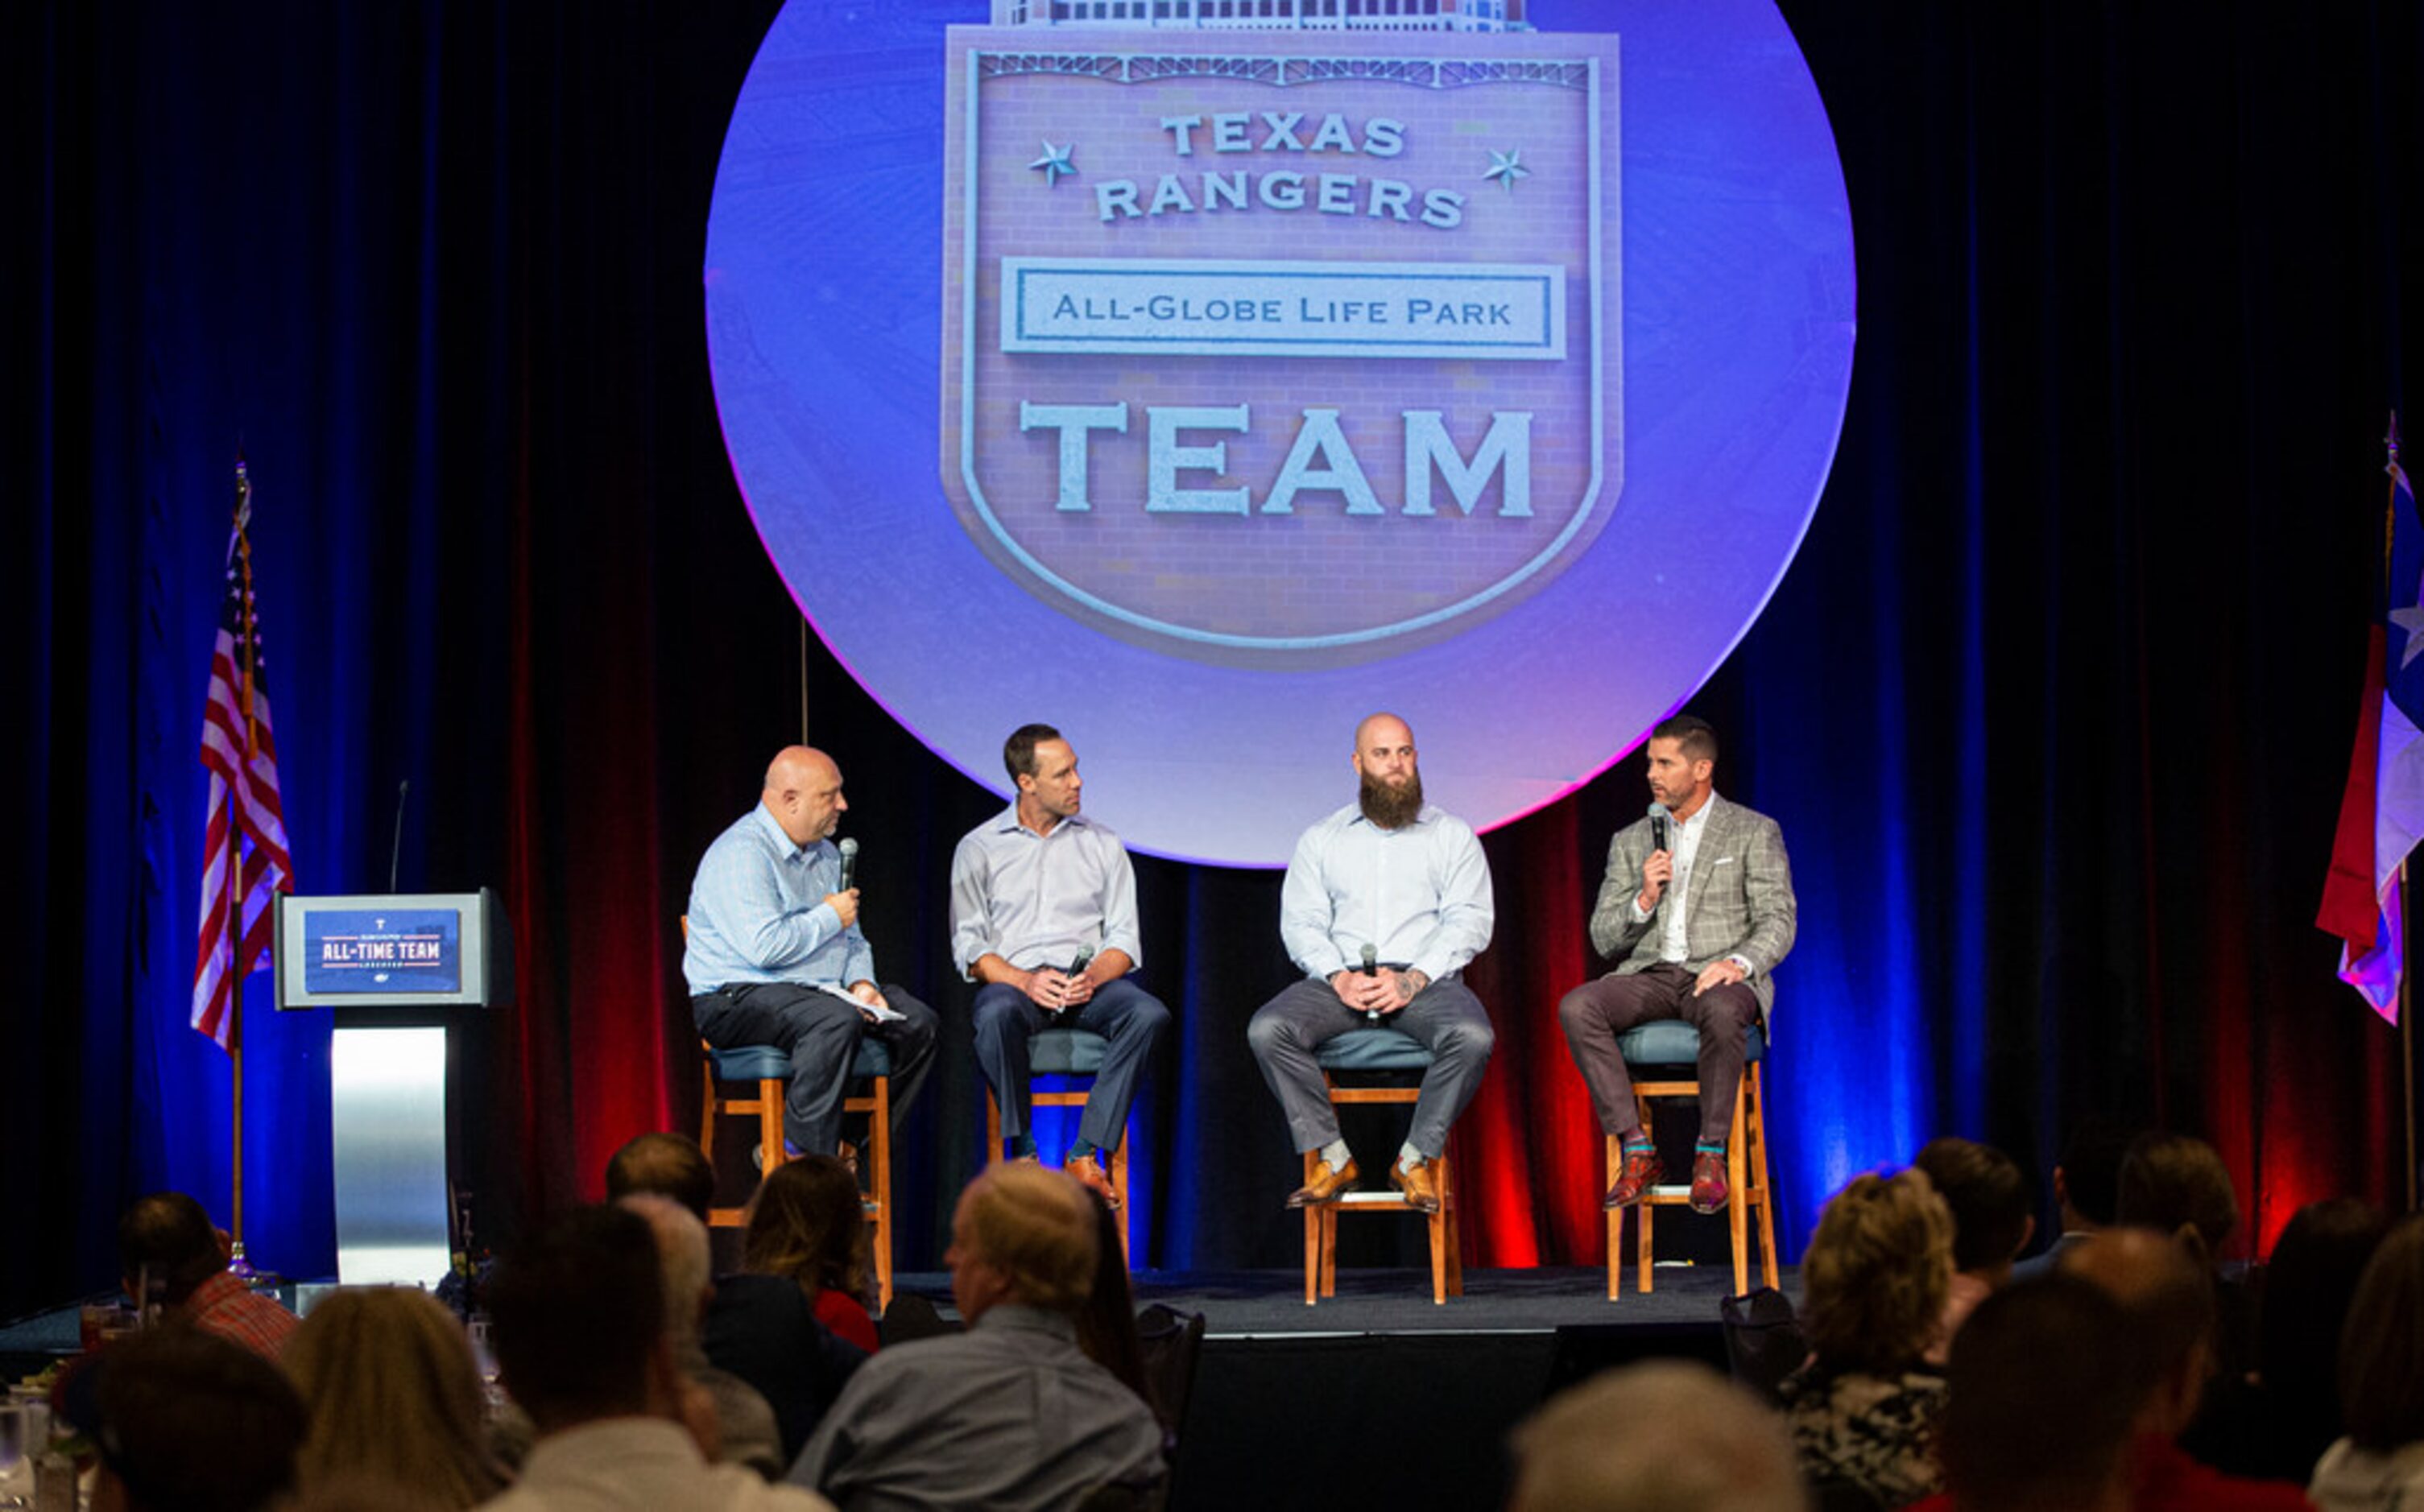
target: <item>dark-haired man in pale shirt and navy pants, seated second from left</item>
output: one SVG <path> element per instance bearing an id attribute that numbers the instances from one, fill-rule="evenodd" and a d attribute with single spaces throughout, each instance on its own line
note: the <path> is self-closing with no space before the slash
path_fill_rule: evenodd
<path id="1" fill-rule="evenodd" d="M 950 858 L 950 957 L 982 984 L 977 1066 L 1001 1102 L 1011 1153 L 1030 1158 L 1028 1042 L 1062 1025 L 1103 1035 L 1110 1054 L 1086 1093 L 1069 1175 L 1117 1207 L 1096 1153 L 1120 1149 L 1137 1081 L 1171 1023 L 1127 976 L 1144 960 L 1137 872 L 1120 836 L 1079 812 L 1084 780 L 1059 729 L 1018 727 L 1001 766 L 1018 800 L 967 831 Z"/>

